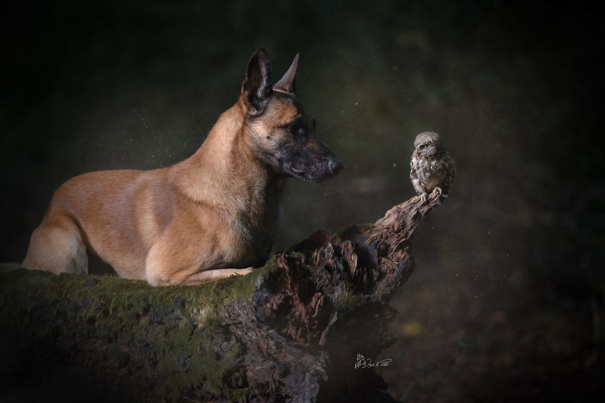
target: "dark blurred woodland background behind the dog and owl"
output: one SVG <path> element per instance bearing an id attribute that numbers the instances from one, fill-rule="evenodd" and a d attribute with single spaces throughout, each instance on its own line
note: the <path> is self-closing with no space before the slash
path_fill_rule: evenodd
<path id="1" fill-rule="evenodd" d="M 0 261 L 21 261 L 52 192 L 169 166 L 236 100 L 257 47 L 346 168 L 292 180 L 276 250 L 413 195 L 420 131 L 456 159 L 414 243 L 380 373 L 409 402 L 589 402 L 605 376 L 603 23 L 503 1 L 58 1 L 1 8 Z M 360 351 L 360 353 L 363 353 Z M 351 357 L 351 365 L 354 357 Z"/>

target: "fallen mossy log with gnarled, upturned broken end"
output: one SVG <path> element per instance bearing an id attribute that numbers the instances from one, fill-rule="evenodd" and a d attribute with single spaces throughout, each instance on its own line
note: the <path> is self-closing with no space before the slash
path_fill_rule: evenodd
<path id="1" fill-rule="evenodd" d="M 0 274 L 3 401 L 393 401 L 375 368 L 394 342 L 388 298 L 414 261 L 432 195 L 263 268 L 195 287 L 115 276 Z"/>

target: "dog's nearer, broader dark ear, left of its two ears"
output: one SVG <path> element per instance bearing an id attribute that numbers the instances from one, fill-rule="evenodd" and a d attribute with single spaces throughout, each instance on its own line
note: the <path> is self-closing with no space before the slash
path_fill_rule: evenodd
<path id="1" fill-rule="evenodd" d="M 250 58 L 242 85 L 243 103 L 250 115 L 263 113 L 271 91 L 271 63 L 267 51 L 261 47 Z"/>

